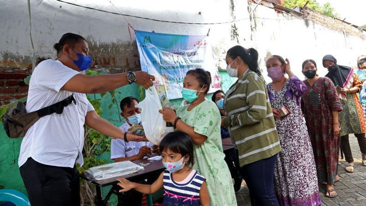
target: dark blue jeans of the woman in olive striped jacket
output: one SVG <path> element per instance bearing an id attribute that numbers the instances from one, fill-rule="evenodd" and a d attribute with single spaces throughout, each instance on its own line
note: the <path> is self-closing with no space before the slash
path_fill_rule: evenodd
<path id="1" fill-rule="evenodd" d="M 276 159 L 277 154 L 240 168 L 240 173 L 249 189 L 252 206 L 279 206 L 273 191 Z"/>

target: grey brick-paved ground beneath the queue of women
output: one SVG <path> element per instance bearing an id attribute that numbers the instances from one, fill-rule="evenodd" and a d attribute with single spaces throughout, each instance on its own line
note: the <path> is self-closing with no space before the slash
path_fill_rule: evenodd
<path id="1" fill-rule="evenodd" d="M 340 159 L 338 168 L 340 180 L 335 183 L 335 190 L 338 196 L 332 199 L 327 198 L 324 195 L 326 187 L 321 185 L 319 188 L 324 206 L 366 206 L 366 167 L 361 165 L 361 152 L 357 139 L 353 135 L 350 135 L 350 144 L 355 160 L 355 172 L 347 173 L 344 170 L 347 162 L 344 159 Z M 242 189 L 236 194 L 236 199 L 238 206 L 250 206 L 249 191 L 244 182 Z"/>

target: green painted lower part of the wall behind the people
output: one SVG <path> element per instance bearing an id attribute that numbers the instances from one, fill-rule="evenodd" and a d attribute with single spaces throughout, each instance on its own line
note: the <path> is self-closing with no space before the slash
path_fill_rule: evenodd
<path id="1" fill-rule="evenodd" d="M 221 79 L 221 86 L 224 91 L 231 86 L 231 84 L 235 81 L 234 78 L 228 77 L 226 72 L 220 71 L 219 76 Z M 119 105 L 119 101 L 126 96 L 134 96 L 138 98 L 140 96 L 140 92 L 138 90 L 138 85 L 132 84 L 127 85 L 125 87 L 119 88 L 118 91 L 121 94 L 117 94 L 117 102 Z M 94 95 L 89 95 L 90 98 L 94 98 Z M 97 98 L 100 97 L 97 95 Z M 208 95 L 208 98 L 211 98 L 211 95 Z M 172 100 L 172 103 L 176 105 L 180 105 L 182 99 Z M 25 101 L 25 99 L 22 99 Z M 109 104 L 111 104 L 111 99 L 105 96 L 102 99 L 102 109 L 104 113 L 102 117 L 105 119 L 111 119 L 110 122 L 116 126 L 120 126 L 122 122 L 116 122 L 115 120 L 119 120 L 119 114 L 117 111 L 117 106 L 113 106 L 111 109 L 108 109 Z M 0 116 L 3 115 L 5 108 L 0 108 Z M 10 139 L 5 134 L 3 127 L 0 128 L 0 185 L 3 185 L 5 188 L 8 189 L 15 189 L 19 190 L 26 194 L 25 187 L 23 185 L 22 178 L 19 174 L 18 168 L 18 157 L 19 157 L 19 150 L 20 150 L 20 143 L 22 139 Z M 109 162 L 111 161 L 111 154 L 106 152 L 105 154 L 101 155 L 100 158 L 107 159 Z M 107 189 L 107 188 L 106 188 Z M 104 190 L 104 194 L 107 194 L 107 191 Z M 113 203 L 115 202 L 115 198 L 113 198 Z"/>

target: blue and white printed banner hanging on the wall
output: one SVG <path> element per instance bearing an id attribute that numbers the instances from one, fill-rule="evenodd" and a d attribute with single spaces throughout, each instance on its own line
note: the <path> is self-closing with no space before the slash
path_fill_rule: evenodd
<path id="1" fill-rule="evenodd" d="M 182 98 L 188 70 L 201 68 L 211 73 L 209 92 L 220 89 L 211 45 L 206 35 L 176 35 L 136 31 L 142 71 L 155 76 L 159 96 Z"/>

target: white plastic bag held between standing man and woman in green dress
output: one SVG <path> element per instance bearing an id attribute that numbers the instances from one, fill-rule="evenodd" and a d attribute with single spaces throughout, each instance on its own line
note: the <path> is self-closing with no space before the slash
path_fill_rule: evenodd
<path id="1" fill-rule="evenodd" d="M 141 108 L 141 123 L 146 138 L 151 143 L 159 145 L 163 137 L 174 129 L 167 127 L 163 115 L 159 113 L 162 107 L 154 86 L 146 89 L 145 99 L 138 106 Z"/>

